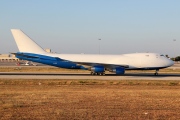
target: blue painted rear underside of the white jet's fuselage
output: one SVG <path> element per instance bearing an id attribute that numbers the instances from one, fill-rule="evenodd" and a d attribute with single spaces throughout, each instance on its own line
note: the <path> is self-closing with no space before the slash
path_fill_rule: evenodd
<path id="1" fill-rule="evenodd" d="M 32 62 L 42 63 L 42 64 L 61 67 L 61 68 L 85 69 L 83 66 L 77 65 L 71 61 L 63 60 L 57 57 L 50 57 L 46 55 L 17 52 L 16 57 L 22 60 L 28 60 Z"/>

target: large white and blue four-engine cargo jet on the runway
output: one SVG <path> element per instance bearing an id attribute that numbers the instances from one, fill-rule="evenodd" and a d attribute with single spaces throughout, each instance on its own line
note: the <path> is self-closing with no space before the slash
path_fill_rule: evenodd
<path id="1" fill-rule="evenodd" d="M 155 70 L 172 66 L 173 61 L 157 53 L 132 53 L 122 55 L 55 54 L 45 52 L 19 29 L 12 29 L 19 52 L 17 58 L 69 69 L 90 70 L 92 75 L 105 75 L 105 71 L 124 74 L 125 70 Z"/>

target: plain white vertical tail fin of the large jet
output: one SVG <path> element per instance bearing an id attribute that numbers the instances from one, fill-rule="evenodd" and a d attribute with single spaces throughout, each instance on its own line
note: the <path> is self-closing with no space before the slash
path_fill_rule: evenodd
<path id="1" fill-rule="evenodd" d="M 18 46 L 19 52 L 45 53 L 45 51 L 31 38 L 19 29 L 11 29 L 13 37 Z"/>

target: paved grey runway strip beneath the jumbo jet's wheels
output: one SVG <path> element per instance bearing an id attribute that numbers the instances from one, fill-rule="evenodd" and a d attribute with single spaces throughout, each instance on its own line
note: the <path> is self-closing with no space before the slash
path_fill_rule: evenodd
<path id="1" fill-rule="evenodd" d="M 0 72 L 0 79 L 59 79 L 59 80 L 180 80 L 180 74 L 126 73 L 124 75 L 106 74 L 93 76 L 87 73 L 27 73 Z"/>

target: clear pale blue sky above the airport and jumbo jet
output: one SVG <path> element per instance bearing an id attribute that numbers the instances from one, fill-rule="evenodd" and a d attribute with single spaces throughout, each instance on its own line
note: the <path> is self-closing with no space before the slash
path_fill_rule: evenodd
<path id="1" fill-rule="evenodd" d="M 179 0 L 1 0 L 0 53 L 18 51 L 10 32 L 18 28 L 57 53 L 98 54 L 100 48 L 101 54 L 177 56 L 179 5 Z"/>

